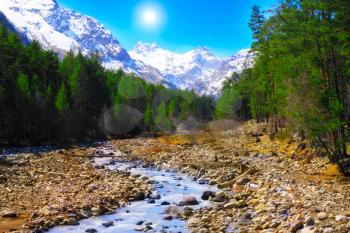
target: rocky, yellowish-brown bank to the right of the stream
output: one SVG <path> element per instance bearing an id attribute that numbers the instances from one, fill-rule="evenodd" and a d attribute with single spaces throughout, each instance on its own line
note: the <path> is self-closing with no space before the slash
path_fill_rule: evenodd
<path id="1" fill-rule="evenodd" d="M 350 182 L 320 152 L 297 135 L 269 134 L 265 124 L 215 128 L 114 145 L 223 190 L 210 197 L 215 207 L 188 217 L 192 232 L 349 232 Z"/>

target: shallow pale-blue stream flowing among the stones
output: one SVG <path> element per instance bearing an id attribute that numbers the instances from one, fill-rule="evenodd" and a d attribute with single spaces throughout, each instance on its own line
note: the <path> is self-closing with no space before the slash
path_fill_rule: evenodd
<path id="1" fill-rule="evenodd" d="M 109 149 L 111 150 L 111 149 Z M 108 149 L 101 149 L 103 153 L 110 153 Z M 114 152 L 118 153 L 118 152 Z M 59 226 L 50 230 L 50 233 L 65 232 L 113 232 L 113 233 L 132 233 L 132 232 L 168 232 L 185 233 L 188 232 L 186 221 L 180 219 L 164 220 L 169 216 L 165 210 L 169 206 L 181 210 L 178 203 L 188 195 L 193 195 L 199 201 L 199 205 L 189 206 L 193 209 L 209 206 L 209 201 L 201 200 L 204 191 L 217 191 L 213 186 L 203 182 L 194 181 L 192 178 L 171 171 L 158 170 L 152 167 L 145 167 L 141 164 L 135 165 L 128 162 L 111 162 L 108 158 L 95 159 L 97 165 L 109 164 L 107 167 L 113 170 L 129 171 L 132 174 L 146 176 L 153 181 L 153 195 L 159 199 L 148 199 L 132 202 L 123 208 L 120 208 L 114 214 L 91 217 L 80 221 L 77 226 Z M 152 203 L 153 200 L 155 203 Z M 168 202 L 164 205 L 164 202 Z M 162 205 L 163 204 L 163 205 Z M 108 227 L 103 226 L 110 223 Z M 94 230 L 93 230 L 94 229 Z"/>

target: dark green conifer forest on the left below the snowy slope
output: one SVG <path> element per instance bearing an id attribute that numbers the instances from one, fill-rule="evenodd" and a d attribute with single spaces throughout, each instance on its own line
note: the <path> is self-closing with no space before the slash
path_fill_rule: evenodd
<path id="1" fill-rule="evenodd" d="M 171 131 L 209 120 L 213 100 L 102 67 L 98 54 L 58 55 L 23 45 L 0 26 L 0 143 L 44 144 Z"/>

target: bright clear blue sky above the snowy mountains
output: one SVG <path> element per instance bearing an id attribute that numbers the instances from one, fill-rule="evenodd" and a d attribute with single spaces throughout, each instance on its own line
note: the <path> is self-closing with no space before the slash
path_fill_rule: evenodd
<path id="1" fill-rule="evenodd" d="M 143 41 L 155 42 L 174 52 L 206 46 L 222 57 L 250 47 L 251 7 L 258 4 L 262 9 L 269 9 L 276 1 L 58 0 L 63 6 L 102 22 L 127 50 Z M 140 15 L 145 15 L 145 8 L 149 6 L 162 16 L 157 17 L 156 21 L 160 22 L 152 28 L 140 23 Z"/>

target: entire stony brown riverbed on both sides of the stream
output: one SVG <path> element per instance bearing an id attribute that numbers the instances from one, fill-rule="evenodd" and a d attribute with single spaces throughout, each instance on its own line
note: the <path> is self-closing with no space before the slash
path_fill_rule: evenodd
<path id="1" fill-rule="evenodd" d="M 219 187 L 202 190 L 200 200 L 211 205 L 176 215 L 191 232 L 349 232 L 350 181 L 321 152 L 298 135 L 271 134 L 264 124 L 217 128 L 111 141 L 120 151 L 115 154 L 86 147 L 2 159 L 0 232 L 23 224 L 28 231 L 75 225 L 154 191 L 147 178 L 94 165 L 96 155 L 139 161 Z"/>

